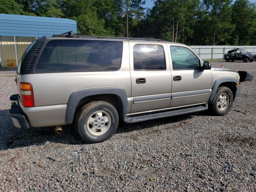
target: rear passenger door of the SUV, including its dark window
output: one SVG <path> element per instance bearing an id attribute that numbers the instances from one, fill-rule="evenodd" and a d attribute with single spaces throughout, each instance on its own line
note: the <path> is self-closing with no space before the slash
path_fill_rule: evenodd
<path id="1" fill-rule="evenodd" d="M 130 41 L 131 113 L 168 108 L 172 76 L 164 42 Z"/>

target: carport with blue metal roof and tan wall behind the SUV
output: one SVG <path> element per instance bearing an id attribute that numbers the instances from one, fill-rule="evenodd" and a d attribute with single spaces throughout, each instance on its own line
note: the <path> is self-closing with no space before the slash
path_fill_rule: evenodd
<path id="1" fill-rule="evenodd" d="M 76 21 L 66 18 L 0 14 L 0 58 L 20 60 L 29 44 L 43 36 L 53 36 L 72 30 L 77 33 Z"/>

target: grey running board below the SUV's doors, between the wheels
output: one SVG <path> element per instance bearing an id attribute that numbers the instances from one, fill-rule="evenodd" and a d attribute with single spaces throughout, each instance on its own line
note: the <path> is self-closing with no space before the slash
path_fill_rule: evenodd
<path id="1" fill-rule="evenodd" d="M 204 111 L 208 109 L 208 104 L 200 105 L 200 106 L 194 106 L 190 108 L 182 108 L 167 112 L 158 112 L 154 114 L 147 114 L 147 115 L 141 115 L 141 116 L 124 116 L 124 122 L 126 123 L 136 123 L 140 121 L 146 121 L 146 120 L 152 120 L 152 119 L 158 119 L 158 118 L 165 118 L 165 117 L 171 117 L 176 115 L 182 115 L 182 114 L 188 114 L 188 113 L 194 113 L 199 111 Z"/>

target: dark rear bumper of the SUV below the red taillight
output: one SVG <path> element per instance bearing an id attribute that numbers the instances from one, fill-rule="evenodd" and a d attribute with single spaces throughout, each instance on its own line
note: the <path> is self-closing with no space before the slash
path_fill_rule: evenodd
<path id="1" fill-rule="evenodd" d="M 10 101 L 12 103 L 11 109 L 9 110 L 12 124 L 17 128 L 30 128 L 26 116 L 23 114 L 20 106 L 18 105 L 18 94 L 12 95 L 10 97 Z"/>

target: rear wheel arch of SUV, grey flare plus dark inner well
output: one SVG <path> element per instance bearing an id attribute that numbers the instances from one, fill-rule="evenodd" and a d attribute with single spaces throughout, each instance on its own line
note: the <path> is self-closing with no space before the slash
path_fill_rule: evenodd
<path id="1" fill-rule="evenodd" d="M 116 107 L 118 114 L 124 116 L 128 112 L 126 92 L 120 87 L 99 87 L 78 90 L 70 95 L 67 104 L 66 122 L 72 124 L 76 109 L 91 101 L 104 100 Z"/>

